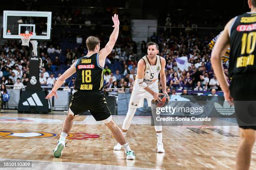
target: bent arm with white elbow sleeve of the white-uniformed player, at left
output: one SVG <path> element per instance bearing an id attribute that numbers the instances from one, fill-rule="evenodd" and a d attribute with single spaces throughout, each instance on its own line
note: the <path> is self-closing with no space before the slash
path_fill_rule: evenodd
<path id="1" fill-rule="evenodd" d="M 136 81 L 137 81 L 139 87 L 143 88 L 144 90 L 149 92 L 151 95 L 153 95 L 154 96 L 154 100 L 158 100 L 160 102 L 161 101 L 161 99 L 159 98 L 160 94 L 154 92 L 151 88 L 148 87 L 146 82 L 143 81 L 145 68 L 146 68 L 146 64 L 143 61 L 143 59 L 139 60 L 138 61 L 138 67 L 137 67 L 137 78 L 136 78 Z"/>

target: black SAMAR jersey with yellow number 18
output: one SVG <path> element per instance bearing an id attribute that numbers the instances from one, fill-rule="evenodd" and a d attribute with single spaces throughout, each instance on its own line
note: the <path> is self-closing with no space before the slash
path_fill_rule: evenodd
<path id="1" fill-rule="evenodd" d="M 84 56 L 77 60 L 75 65 L 77 79 L 75 89 L 78 90 L 102 90 L 103 68 L 99 65 L 99 54 Z"/>

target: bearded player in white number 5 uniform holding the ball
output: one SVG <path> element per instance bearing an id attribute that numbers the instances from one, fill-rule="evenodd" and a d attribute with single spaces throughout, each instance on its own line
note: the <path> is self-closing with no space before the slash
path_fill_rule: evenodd
<path id="1" fill-rule="evenodd" d="M 148 101 L 148 106 L 151 106 L 152 100 L 161 101 L 159 98 L 159 74 L 163 93 L 166 92 L 166 77 L 164 73 L 165 59 L 157 55 L 159 53 L 158 45 L 155 42 L 148 42 L 148 55 L 142 57 L 138 62 L 137 77 L 133 85 L 133 92 L 129 102 L 129 108 L 125 120 L 123 122 L 123 135 L 126 133 L 131 125 L 131 120 L 138 107 L 143 107 L 144 98 Z M 169 97 L 168 97 L 169 100 Z M 152 114 L 156 114 L 152 111 Z M 157 135 L 157 152 L 164 153 L 164 145 L 162 143 L 162 126 L 156 126 Z M 121 150 L 121 145 L 115 145 L 114 150 Z"/>

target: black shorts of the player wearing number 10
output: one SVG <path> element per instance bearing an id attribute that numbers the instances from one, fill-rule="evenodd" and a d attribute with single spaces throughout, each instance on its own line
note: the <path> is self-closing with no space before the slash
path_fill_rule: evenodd
<path id="1" fill-rule="evenodd" d="M 256 73 L 234 75 L 229 89 L 239 127 L 256 130 Z"/>

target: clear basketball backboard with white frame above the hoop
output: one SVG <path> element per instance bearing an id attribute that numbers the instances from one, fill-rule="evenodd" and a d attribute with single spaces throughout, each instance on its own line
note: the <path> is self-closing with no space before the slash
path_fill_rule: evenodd
<path id="1" fill-rule="evenodd" d="M 33 34 L 31 40 L 50 40 L 51 12 L 3 11 L 3 38 L 20 39 L 26 31 Z"/>

